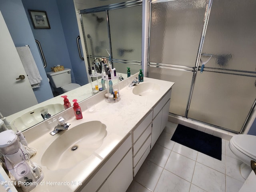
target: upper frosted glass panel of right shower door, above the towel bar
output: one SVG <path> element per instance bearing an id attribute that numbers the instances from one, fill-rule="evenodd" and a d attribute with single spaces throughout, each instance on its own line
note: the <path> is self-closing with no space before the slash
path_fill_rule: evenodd
<path id="1" fill-rule="evenodd" d="M 255 10 L 255 0 L 213 0 L 202 49 L 213 56 L 205 68 L 255 72 Z"/>

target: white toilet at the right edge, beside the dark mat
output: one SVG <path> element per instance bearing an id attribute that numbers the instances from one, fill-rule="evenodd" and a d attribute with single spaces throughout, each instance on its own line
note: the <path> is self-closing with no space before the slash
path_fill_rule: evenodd
<path id="1" fill-rule="evenodd" d="M 231 138 L 229 148 L 235 156 L 243 163 L 240 165 L 240 172 L 244 179 L 247 179 L 251 169 L 251 160 L 256 161 L 256 136 L 239 134 Z"/>

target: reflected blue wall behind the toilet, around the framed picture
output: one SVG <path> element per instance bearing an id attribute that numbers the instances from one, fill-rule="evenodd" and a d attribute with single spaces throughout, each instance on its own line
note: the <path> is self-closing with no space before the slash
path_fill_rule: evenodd
<path id="1" fill-rule="evenodd" d="M 54 65 L 63 65 L 65 68 L 71 68 L 71 61 L 68 54 L 60 14 L 55 0 L 22 0 L 27 14 L 27 20 L 34 34 L 34 38 L 38 40 L 44 51 L 47 67 L 46 72 L 51 71 Z M 28 10 L 42 10 L 46 11 L 50 23 L 50 29 L 34 29 L 32 20 Z M 71 73 L 72 82 L 75 82 L 74 75 Z"/>

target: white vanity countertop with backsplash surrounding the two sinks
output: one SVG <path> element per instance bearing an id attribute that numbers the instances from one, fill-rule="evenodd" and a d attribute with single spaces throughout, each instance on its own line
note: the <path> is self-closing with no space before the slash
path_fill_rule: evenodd
<path id="1" fill-rule="evenodd" d="M 138 75 L 138 74 L 137 74 Z M 138 96 L 132 93 L 132 89 L 128 90 L 124 84 L 129 84 L 134 76 L 122 81 L 120 85 L 121 99 L 116 103 L 108 103 L 104 100 L 104 92 L 90 97 L 80 103 L 82 108 L 83 119 L 76 120 L 73 109 L 69 108 L 61 112 L 58 116 L 64 116 L 66 122 L 69 122 L 70 128 L 83 122 L 97 120 L 106 125 L 107 136 L 104 138 L 103 144 L 87 159 L 76 164 L 72 168 L 62 170 L 48 170 L 42 166 L 44 179 L 41 184 L 32 190 L 32 192 L 74 192 L 80 186 L 72 185 L 72 182 L 86 182 L 91 174 L 104 162 L 104 160 L 115 150 L 116 146 L 132 131 L 132 129 L 142 120 L 142 118 L 156 105 L 156 103 L 166 94 L 173 86 L 173 82 L 167 82 L 157 79 L 144 78 L 144 82 L 154 82 L 160 85 L 160 90 L 156 94 L 148 96 Z M 140 83 L 140 84 L 142 84 Z M 95 102 L 94 112 L 86 109 L 86 103 Z M 51 122 L 49 119 L 48 122 Z M 24 135 L 28 140 L 28 146 L 37 149 L 36 155 L 32 158 L 33 162 L 41 165 L 41 158 L 48 146 L 60 134 L 51 136 L 49 133 L 53 130 L 53 123 L 47 121 L 26 130 Z M 50 158 L 50 157 L 49 157 Z M 50 182 L 58 182 L 51 185 Z M 62 182 L 62 183 L 61 183 Z M 64 183 L 66 182 L 66 183 Z"/>

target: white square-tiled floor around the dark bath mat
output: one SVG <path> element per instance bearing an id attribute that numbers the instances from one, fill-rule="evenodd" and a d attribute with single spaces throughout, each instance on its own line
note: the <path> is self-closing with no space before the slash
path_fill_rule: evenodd
<path id="1" fill-rule="evenodd" d="M 222 160 L 172 140 L 178 124 L 168 122 L 126 192 L 238 192 L 242 162 L 222 139 Z"/>

